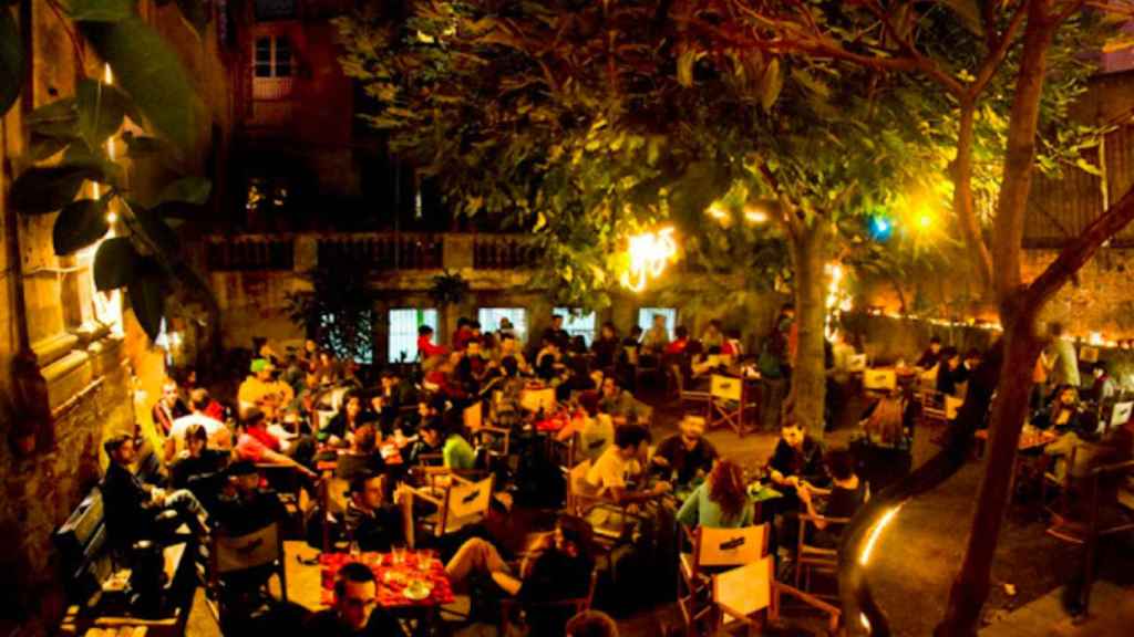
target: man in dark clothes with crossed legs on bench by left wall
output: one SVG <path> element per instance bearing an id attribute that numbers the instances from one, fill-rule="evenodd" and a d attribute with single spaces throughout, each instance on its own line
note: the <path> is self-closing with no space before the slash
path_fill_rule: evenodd
<path id="1" fill-rule="evenodd" d="M 105 511 L 107 532 L 112 546 L 129 549 L 138 540 L 162 540 L 159 516 L 174 511 L 197 535 L 208 535 L 208 515 L 196 496 L 187 490 L 167 492 L 145 485 L 130 470 L 137 459 L 134 438 L 112 435 L 102 448 L 110 458 L 107 475 L 99 490 Z M 174 527 L 176 528 L 176 526 Z M 172 529 L 168 529 L 172 530 Z"/>

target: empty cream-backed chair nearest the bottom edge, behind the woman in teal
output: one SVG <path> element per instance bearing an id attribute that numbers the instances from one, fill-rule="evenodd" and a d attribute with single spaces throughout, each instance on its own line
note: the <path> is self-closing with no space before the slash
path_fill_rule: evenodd
<path id="1" fill-rule="evenodd" d="M 829 634 L 837 635 L 843 611 L 814 595 L 776 581 L 775 569 L 771 555 L 764 555 L 712 576 L 712 603 L 723 615 L 719 626 L 729 629 L 730 625 L 743 623 L 750 635 L 762 635 L 768 625 L 779 622 L 781 598 L 788 595 L 827 615 Z"/>

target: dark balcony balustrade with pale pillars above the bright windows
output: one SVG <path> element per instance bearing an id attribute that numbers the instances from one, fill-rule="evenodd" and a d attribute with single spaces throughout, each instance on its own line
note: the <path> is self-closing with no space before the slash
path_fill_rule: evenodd
<path id="1" fill-rule="evenodd" d="M 398 270 L 526 270 L 540 258 L 523 235 L 352 232 L 212 236 L 212 272 L 306 271 L 319 264 Z"/>

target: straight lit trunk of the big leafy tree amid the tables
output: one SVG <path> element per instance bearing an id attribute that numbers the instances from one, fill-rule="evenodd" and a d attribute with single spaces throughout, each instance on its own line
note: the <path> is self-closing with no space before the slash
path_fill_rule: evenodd
<path id="1" fill-rule="evenodd" d="M 815 440 L 823 436 L 827 368 L 823 364 L 827 323 L 827 250 L 829 230 L 821 220 L 799 223 L 792 233 L 795 266 L 795 312 L 798 341 L 788 398 L 796 419 Z"/>

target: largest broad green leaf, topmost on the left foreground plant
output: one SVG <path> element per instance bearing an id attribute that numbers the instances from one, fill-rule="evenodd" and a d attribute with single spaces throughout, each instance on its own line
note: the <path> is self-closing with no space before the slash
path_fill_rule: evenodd
<path id="1" fill-rule="evenodd" d="M 201 138 L 204 107 L 166 40 L 138 17 L 79 27 L 156 131 L 183 148 L 194 146 Z"/>

